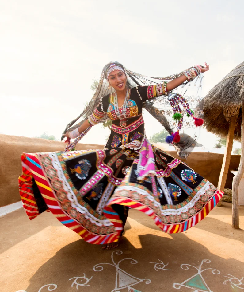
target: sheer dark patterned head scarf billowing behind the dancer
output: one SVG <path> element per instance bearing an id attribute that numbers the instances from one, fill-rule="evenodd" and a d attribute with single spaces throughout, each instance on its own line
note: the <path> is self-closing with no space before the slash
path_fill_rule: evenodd
<path id="1" fill-rule="evenodd" d="M 190 67 L 191 68 L 191 67 Z M 109 82 L 107 81 L 109 74 L 114 70 L 120 70 L 123 71 L 127 76 L 127 87 L 133 88 L 135 86 L 143 86 L 143 85 L 154 85 L 158 83 L 162 83 L 163 81 L 170 81 L 176 77 L 179 77 L 185 73 L 185 71 L 189 70 L 190 68 L 173 75 L 169 75 L 166 77 L 147 77 L 145 75 L 130 71 L 126 69 L 121 63 L 117 61 L 112 61 L 106 64 L 102 70 L 101 77 L 99 79 L 99 83 L 97 85 L 96 92 L 94 93 L 92 99 L 90 100 L 89 104 L 86 106 L 86 108 L 83 110 L 83 112 L 74 120 L 72 120 L 69 124 L 67 124 L 65 130 L 63 131 L 63 134 L 67 131 L 73 131 L 74 129 L 78 128 L 87 118 L 90 116 L 94 109 L 97 107 L 97 105 L 100 102 L 100 99 L 104 97 L 105 95 L 111 93 L 114 91 L 113 88 L 110 88 Z M 185 94 L 185 92 L 189 89 L 189 86 L 191 83 L 196 86 L 197 93 L 198 90 L 201 88 L 202 83 L 202 76 L 199 75 L 197 78 L 195 78 L 193 81 L 185 81 L 181 86 L 179 86 L 177 89 L 174 89 L 174 92 L 180 91 L 180 94 Z M 187 86 L 188 85 L 188 86 Z M 193 96 L 190 96 L 192 99 Z M 200 96 L 196 97 L 197 101 L 200 101 L 202 98 Z M 162 106 L 162 109 L 161 109 Z M 155 99 L 148 100 L 144 103 L 143 107 L 152 115 L 154 116 L 160 124 L 166 129 L 169 134 L 171 134 L 172 129 L 174 128 L 174 123 L 170 118 L 167 117 L 170 116 L 170 110 L 169 110 L 169 102 L 167 100 L 167 97 L 157 97 Z M 167 110 L 168 109 L 168 110 Z M 194 106 L 193 106 L 194 109 Z M 75 124 L 79 119 L 81 120 Z M 109 120 L 109 117 L 105 115 L 100 121 L 104 122 L 106 120 Z M 75 124 L 75 125 L 74 125 Z M 186 123 L 187 124 L 187 123 Z M 184 127 L 183 127 L 184 128 Z M 90 128 L 88 129 L 90 130 Z M 86 132 L 88 132 L 88 130 Z M 84 133 L 85 134 L 85 133 Z M 84 135 L 83 135 L 84 136 Z M 180 144 L 173 143 L 173 146 L 175 147 L 178 156 L 181 158 L 187 158 L 189 153 L 193 150 L 194 146 L 197 145 L 196 143 L 196 136 L 194 138 L 191 138 L 188 135 L 182 135 Z M 81 138 L 81 137 L 79 137 Z M 78 138 L 77 138 L 78 139 Z M 63 140 L 63 136 L 61 137 L 61 140 Z M 80 140 L 80 139 L 78 139 Z M 78 140 L 76 143 L 78 143 Z"/>

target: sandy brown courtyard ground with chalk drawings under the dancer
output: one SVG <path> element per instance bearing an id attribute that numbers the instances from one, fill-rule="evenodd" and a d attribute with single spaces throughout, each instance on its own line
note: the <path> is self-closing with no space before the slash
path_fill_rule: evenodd
<path id="1" fill-rule="evenodd" d="M 231 204 L 223 203 L 190 230 L 167 235 L 130 210 L 121 252 L 112 254 L 51 213 L 30 221 L 19 209 L 0 218 L 0 291 L 243 291 L 243 206 L 241 229 L 231 222 Z"/>

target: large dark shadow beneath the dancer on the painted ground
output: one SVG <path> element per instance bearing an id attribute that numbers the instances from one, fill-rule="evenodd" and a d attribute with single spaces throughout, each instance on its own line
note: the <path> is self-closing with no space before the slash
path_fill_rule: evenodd
<path id="1" fill-rule="evenodd" d="M 243 276 L 243 262 L 219 257 L 183 233 L 175 234 L 173 238 L 144 234 L 139 235 L 139 240 L 141 248 L 135 248 L 126 237 L 123 237 L 120 247 L 116 249 L 122 251 L 123 254 L 113 254 L 116 264 L 124 258 L 138 261 L 135 263 L 131 259 L 127 259 L 120 262 L 119 268 L 122 270 L 119 270 L 117 275 L 118 288 L 116 290 L 114 290 L 116 288 L 116 267 L 112 265 L 112 251 L 102 251 L 100 246 L 91 245 L 80 239 L 61 248 L 55 256 L 42 265 L 30 278 L 30 284 L 25 291 L 36 292 L 42 286 L 53 283 L 57 285 L 57 292 L 79 290 L 87 292 L 173 292 L 176 291 L 176 288 L 173 287 L 174 283 L 182 283 L 194 276 L 197 273 L 196 268 L 199 268 L 204 259 L 211 261 L 203 263 L 202 270 L 211 268 L 202 273 L 204 280 L 200 278 L 200 275 L 196 275 L 185 283 L 188 288 L 179 285 L 176 287 L 180 287 L 179 289 L 183 292 L 193 291 L 193 288 L 204 289 L 195 291 L 229 292 L 234 290 L 229 281 L 223 285 L 223 282 L 228 280 L 224 276 L 231 274 L 239 279 Z M 93 270 L 93 266 L 97 264 L 100 265 L 95 270 L 101 271 Z M 192 266 L 184 270 L 181 268 L 181 264 Z M 164 267 L 164 265 L 166 266 Z M 102 270 L 101 267 L 104 269 Z M 162 269 L 163 267 L 164 269 Z M 220 274 L 212 269 L 218 270 Z M 77 279 L 78 284 L 76 285 L 74 277 L 83 278 Z M 146 280 L 136 283 L 139 281 L 138 279 L 149 279 L 151 283 L 147 284 Z M 74 283 L 73 287 L 71 287 L 72 283 Z M 85 283 L 90 286 L 81 286 Z M 244 285 L 240 287 L 244 288 Z M 50 288 L 54 288 L 54 286 Z M 239 290 L 238 287 L 237 290 Z M 47 291 L 47 287 L 41 290 L 41 292 L 44 291 Z"/>

